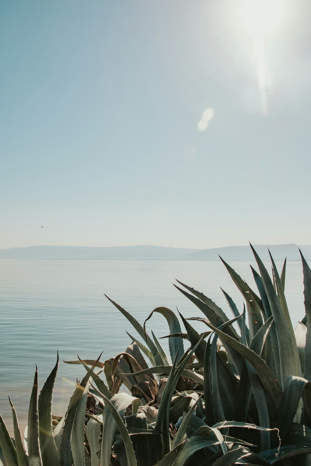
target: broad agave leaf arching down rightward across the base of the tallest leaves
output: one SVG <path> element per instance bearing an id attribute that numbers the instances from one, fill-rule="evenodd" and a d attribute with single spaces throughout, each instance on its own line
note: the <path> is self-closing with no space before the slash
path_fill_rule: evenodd
<path id="1" fill-rule="evenodd" d="M 235 338 L 231 338 L 226 333 L 213 327 L 211 324 L 208 324 L 208 326 L 217 333 L 222 343 L 226 341 L 231 344 L 254 367 L 263 384 L 264 390 L 277 410 L 281 403 L 282 390 L 271 369 L 263 359 L 250 348 L 247 348 L 247 346 L 235 340 Z"/>

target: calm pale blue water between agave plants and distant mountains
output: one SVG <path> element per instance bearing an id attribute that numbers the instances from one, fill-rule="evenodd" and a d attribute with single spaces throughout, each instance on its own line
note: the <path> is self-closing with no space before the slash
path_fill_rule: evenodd
<path id="1" fill-rule="evenodd" d="M 277 264 L 282 268 L 282 264 Z M 256 289 L 249 264 L 231 266 Z M 172 282 L 175 279 L 204 292 L 230 315 L 223 288 L 242 310 L 242 295 L 225 267 L 207 261 L 107 261 L 0 259 L 0 412 L 11 426 L 9 395 L 25 426 L 28 403 L 38 366 L 39 385 L 60 360 L 115 356 L 131 343 L 125 330 L 135 335 L 125 317 L 104 293 L 129 311 L 140 323 L 158 306 L 176 309 L 185 317 L 200 315 Z M 294 325 L 304 316 L 303 277 L 300 262 L 287 265 L 285 287 Z M 202 315 L 201 315 L 202 316 Z M 157 337 L 168 334 L 166 320 L 150 321 Z M 205 327 L 206 328 L 206 327 Z M 163 340 L 162 340 L 163 341 Z M 53 412 L 62 414 L 74 391 L 79 366 L 60 363 Z"/>

